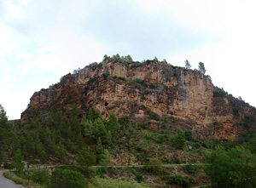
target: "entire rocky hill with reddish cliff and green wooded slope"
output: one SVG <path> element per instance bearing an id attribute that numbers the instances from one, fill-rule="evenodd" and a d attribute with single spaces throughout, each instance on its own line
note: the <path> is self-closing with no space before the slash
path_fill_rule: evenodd
<path id="1" fill-rule="evenodd" d="M 255 108 L 201 71 L 105 56 L 34 93 L 20 121 L 0 110 L 0 161 L 28 187 L 256 185 Z"/>

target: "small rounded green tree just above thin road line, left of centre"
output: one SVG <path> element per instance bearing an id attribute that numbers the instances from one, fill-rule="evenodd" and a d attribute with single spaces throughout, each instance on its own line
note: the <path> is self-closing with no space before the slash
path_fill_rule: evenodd
<path id="1" fill-rule="evenodd" d="M 96 157 L 94 155 L 94 152 L 90 151 L 89 146 L 84 146 L 83 150 L 79 153 L 79 156 L 77 157 L 77 162 L 87 167 L 95 165 Z"/>

